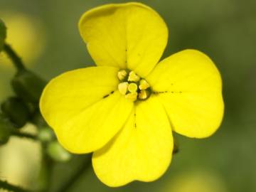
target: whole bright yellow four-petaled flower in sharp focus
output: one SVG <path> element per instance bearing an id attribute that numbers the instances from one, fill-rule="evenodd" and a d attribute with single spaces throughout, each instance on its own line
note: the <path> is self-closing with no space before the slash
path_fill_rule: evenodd
<path id="1" fill-rule="evenodd" d="M 79 29 L 97 67 L 51 80 L 40 108 L 65 149 L 94 152 L 100 181 L 108 186 L 154 181 L 171 162 L 172 131 L 203 138 L 218 129 L 223 118 L 218 69 L 198 50 L 158 63 L 168 29 L 149 6 L 100 6 L 83 14 Z"/>

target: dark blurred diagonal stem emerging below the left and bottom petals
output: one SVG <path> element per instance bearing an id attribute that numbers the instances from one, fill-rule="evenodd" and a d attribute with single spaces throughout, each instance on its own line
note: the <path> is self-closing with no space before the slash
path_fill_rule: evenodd
<path id="1" fill-rule="evenodd" d="M 80 168 L 78 168 L 75 174 L 73 174 L 73 176 L 71 176 L 70 179 L 67 182 L 65 182 L 57 192 L 69 191 L 70 188 L 75 184 L 75 182 L 78 181 L 78 178 L 80 178 L 80 176 L 82 176 L 82 174 L 84 174 L 85 171 L 87 171 L 87 169 L 90 168 L 90 166 L 91 166 L 91 156 L 87 157 L 85 161 L 82 162 L 82 165 L 80 166 Z"/>

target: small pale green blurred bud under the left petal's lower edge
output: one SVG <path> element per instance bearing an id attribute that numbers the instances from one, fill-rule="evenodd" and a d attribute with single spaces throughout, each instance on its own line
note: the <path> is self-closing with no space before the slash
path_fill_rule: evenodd
<path id="1" fill-rule="evenodd" d="M 56 141 L 48 144 L 47 153 L 55 161 L 65 162 L 71 158 L 71 154 Z"/>

